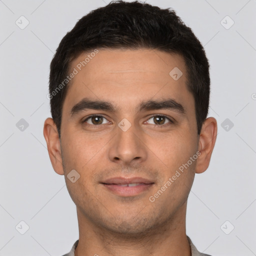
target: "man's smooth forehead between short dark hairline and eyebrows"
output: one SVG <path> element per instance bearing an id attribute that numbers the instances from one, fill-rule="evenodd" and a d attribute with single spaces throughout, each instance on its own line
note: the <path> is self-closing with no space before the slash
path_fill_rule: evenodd
<path id="1" fill-rule="evenodd" d="M 69 68 L 74 70 L 63 110 L 84 97 L 114 101 L 121 107 L 165 96 L 179 102 L 189 97 L 193 100 L 179 54 L 155 49 L 98 49 L 77 56 Z"/>

